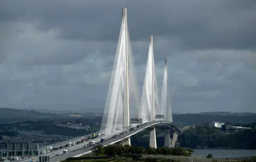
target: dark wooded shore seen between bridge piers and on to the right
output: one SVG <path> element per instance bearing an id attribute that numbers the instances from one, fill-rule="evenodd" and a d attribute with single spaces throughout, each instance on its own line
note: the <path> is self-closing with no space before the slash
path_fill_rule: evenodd
<path id="1" fill-rule="evenodd" d="M 241 125 L 241 124 L 234 124 Z M 195 128 L 190 127 L 179 135 L 177 144 L 186 148 L 238 148 L 238 149 L 256 149 L 256 123 L 241 125 L 252 127 L 251 130 L 243 132 L 225 133 L 217 127 L 211 127 L 208 124 L 196 125 Z M 165 127 L 156 127 L 157 147 L 164 146 L 164 130 Z M 172 133 L 171 133 L 172 135 Z M 134 134 L 131 137 L 132 146 L 147 147 L 149 143 L 149 131 L 143 131 Z"/>

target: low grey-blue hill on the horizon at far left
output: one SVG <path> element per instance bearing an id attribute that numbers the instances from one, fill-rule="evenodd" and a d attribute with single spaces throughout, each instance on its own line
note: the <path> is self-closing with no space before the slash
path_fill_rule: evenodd
<path id="1" fill-rule="evenodd" d="M 0 118 L 42 118 L 53 117 L 56 114 L 39 113 L 35 110 L 22 110 L 14 108 L 0 108 Z"/>

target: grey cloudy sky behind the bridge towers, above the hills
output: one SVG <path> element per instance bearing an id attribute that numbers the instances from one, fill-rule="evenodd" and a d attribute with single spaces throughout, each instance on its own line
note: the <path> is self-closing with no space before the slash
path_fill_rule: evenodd
<path id="1" fill-rule="evenodd" d="M 143 86 L 149 35 L 173 112 L 256 113 L 256 1 L 0 1 L 0 107 L 103 112 L 122 8 Z"/>

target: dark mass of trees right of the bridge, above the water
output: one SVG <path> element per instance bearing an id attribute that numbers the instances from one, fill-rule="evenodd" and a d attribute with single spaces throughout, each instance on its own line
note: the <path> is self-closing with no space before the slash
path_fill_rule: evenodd
<path id="1" fill-rule="evenodd" d="M 178 138 L 180 146 L 189 148 L 256 149 L 256 129 L 236 133 L 223 133 L 207 124 L 190 127 Z"/>

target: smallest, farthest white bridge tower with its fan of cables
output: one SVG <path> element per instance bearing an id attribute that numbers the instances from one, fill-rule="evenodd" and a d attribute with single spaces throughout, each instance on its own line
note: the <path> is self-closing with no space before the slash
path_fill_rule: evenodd
<path id="1" fill-rule="evenodd" d="M 172 107 L 170 103 L 169 97 L 169 83 L 168 83 L 168 67 L 167 67 L 167 59 L 164 60 L 164 79 L 161 93 L 161 114 L 164 115 L 164 120 L 173 122 L 172 120 Z"/>

